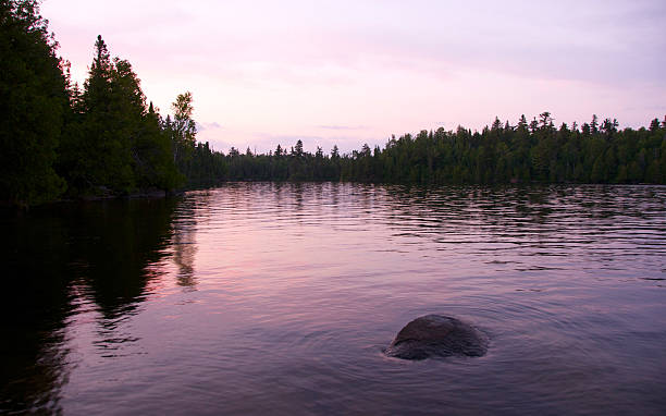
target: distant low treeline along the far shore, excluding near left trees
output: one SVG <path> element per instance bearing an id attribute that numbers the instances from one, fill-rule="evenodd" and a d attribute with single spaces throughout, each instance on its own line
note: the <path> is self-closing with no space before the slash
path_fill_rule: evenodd
<path id="1" fill-rule="evenodd" d="M 357 181 L 419 184 L 495 184 L 527 182 L 666 183 L 666 119 L 649 129 L 618 131 L 616 120 L 559 129 L 548 112 L 516 125 L 495 119 L 482 132 L 458 127 L 393 137 L 384 148 L 341 156 L 321 148 L 225 157 L 226 179 L 261 181 Z"/>

